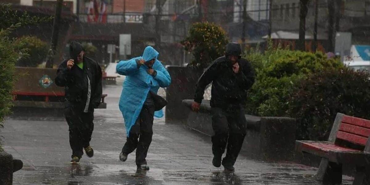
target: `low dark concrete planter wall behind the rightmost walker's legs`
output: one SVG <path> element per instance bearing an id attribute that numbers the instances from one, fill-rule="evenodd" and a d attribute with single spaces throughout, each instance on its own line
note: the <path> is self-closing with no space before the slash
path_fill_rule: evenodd
<path id="1" fill-rule="evenodd" d="M 190 111 L 193 100 L 183 100 L 188 107 L 186 125 L 207 135 L 213 135 L 211 107 L 203 101 L 198 113 Z M 296 121 L 286 117 L 257 117 L 245 115 L 247 134 L 243 150 L 253 158 L 292 160 L 294 157 Z"/>

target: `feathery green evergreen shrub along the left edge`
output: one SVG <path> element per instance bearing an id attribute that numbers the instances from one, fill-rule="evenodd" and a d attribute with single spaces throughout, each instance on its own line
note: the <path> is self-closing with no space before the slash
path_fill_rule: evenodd
<path id="1" fill-rule="evenodd" d="M 2 128 L 4 117 L 11 113 L 13 85 L 17 78 L 17 74 L 14 73 L 15 64 L 20 58 L 27 55 L 27 51 L 24 49 L 26 40 L 15 40 L 10 38 L 10 34 L 22 25 L 48 22 L 52 19 L 51 17 L 30 16 L 26 12 L 19 14 L 16 10 L 11 9 L 10 4 L 3 3 L 0 3 L 0 17 L 0 128 Z"/>

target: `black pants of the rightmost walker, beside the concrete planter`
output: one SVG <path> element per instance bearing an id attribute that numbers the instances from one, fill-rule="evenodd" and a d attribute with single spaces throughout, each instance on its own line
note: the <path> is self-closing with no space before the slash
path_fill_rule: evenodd
<path id="1" fill-rule="evenodd" d="M 222 165 L 233 166 L 246 135 L 244 109 L 241 106 L 225 109 L 212 107 L 212 128 L 215 132 L 212 136 L 213 155 L 221 157 L 227 144 Z"/>

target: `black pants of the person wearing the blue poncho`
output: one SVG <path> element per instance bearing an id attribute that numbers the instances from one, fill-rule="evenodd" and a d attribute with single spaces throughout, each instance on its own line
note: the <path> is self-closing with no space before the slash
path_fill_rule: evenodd
<path id="1" fill-rule="evenodd" d="M 153 136 L 154 105 L 144 105 L 140 112 L 139 118 L 130 130 L 129 137 L 122 148 L 122 153 L 130 154 L 136 149 L 136 165 L 147 164 L 149 145 Z"/>

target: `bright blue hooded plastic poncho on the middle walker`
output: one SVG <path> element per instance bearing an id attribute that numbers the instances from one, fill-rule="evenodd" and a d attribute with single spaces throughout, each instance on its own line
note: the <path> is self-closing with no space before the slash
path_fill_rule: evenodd
<path id="1" fill-rule="evenodd" d="M 142 57 L 120 61 L 120 63 L 117 64 L 117 73 L 126 76 L 125 82 L 123 83 L 119 107 L 125 120 L 127 137 L 129 137 L 131 127 L 139 117 L 149 90 L 157 94 L 159 87 L 168 87 L 171 83 L 171 77 L 167 70 L 163 67 L 161 62 L 157 60 L 158 54 L 158 51 L 148 46 L 145 48 Z M 145 61 L 149 61 L 153 58 L 155 58 L 153 69 L 157 71 L 155 77 L 147 73 L 148 67 L 146 65 L 141 65 L 138 68 L 136 63 L 136 60 L 144 59 Z M 163 117 L 163 111 L 155 111 L 154 116 L 158 118 Z"/>

